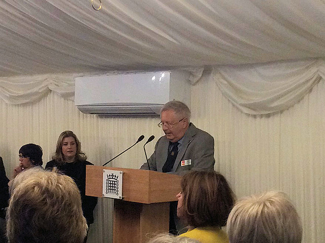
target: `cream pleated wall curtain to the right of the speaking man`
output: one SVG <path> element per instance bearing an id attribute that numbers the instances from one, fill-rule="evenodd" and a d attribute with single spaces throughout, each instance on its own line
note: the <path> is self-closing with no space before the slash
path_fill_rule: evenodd
<path id="1" fill-rule="evenodd" d="M 303 242 L 323 242 L 325 82 L 285 111 L 250 115 L 224 97 L 215 79 L 203 81 L 192 87 L 192 121 L 215 138 L 215 169 L 238 198 L 286 192 L 302 218 Z"/>

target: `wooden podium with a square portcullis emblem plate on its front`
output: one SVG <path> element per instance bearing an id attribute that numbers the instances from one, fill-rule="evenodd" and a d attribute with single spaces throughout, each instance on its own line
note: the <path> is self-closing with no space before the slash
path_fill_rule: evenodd
<path id="1" fill-rule="evenodd" d="M 103 197 L 103 169 L 123 171 L 123 199 L 114 199 L 113 243 L 143 243 L 168 232 L 169 202 L 181 191 L 181 177 L 152 170 L 86 166 L 86 195 Z"/>

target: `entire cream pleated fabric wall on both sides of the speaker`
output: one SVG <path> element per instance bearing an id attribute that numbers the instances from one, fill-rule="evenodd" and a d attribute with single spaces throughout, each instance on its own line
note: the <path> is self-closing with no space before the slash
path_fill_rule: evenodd
<path id="1" fill-rule="evenodd" d="M 212 81 L 192 86 L 191 121 L 215 138 L 215 169 L 230 181 L 240 198 L 269 189 L 285 191 L 303 220 L 305 243 L 325 238 L 324 159 L 325 84 L 320 82 L 301 102 L 287 111 L 252 116 L 238 111 Z M 88 160 L 101 165 L 135 143 L 144 134 L 156 136 L 148 155 L 163 132 L 159 118 L 99 118 L 80 113 L 73 101 L 49 94 L 42 100 L 12 106 L 0 100 L 0 156 L 7 174 L 18 164 L 18 150 L 39 144 L 43 161 L 50 160 L 58 135 L 73 130 Z M 143 144 L 137 145 L 112 166 L 138 168 L 145 161 Z M 112 202 L 100 199 L 88 242 L 111 242 Z"/>

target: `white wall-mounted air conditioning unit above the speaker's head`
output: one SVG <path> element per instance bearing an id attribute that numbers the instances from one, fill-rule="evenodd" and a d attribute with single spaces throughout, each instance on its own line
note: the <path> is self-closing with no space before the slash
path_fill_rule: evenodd
<path id="1" fill-rule="evenodd" d="M 188 77 L 185 71 L 79 77 L 75 106 L 87 114 L 156 116 L 173 99 L 190 107 Z"/>

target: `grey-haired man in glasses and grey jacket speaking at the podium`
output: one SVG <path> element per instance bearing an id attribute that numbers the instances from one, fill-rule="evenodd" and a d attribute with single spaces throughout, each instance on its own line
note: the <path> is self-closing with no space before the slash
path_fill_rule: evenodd
<path id="1" fill-rule="evenodd" d="M 165 136 L 159 138 L 154 153 L 141 169 L 180 176 L 190 170 L 214 170 L 214 139 L 209 133 L 190 123 L 189 118 L 190 110 L 183 102 L 173 100 L 164 105 L 158 126 L 163 128 Z M 171 233 L 184 227 L 176 212 L 177 203 L 171 202 Z"/>

